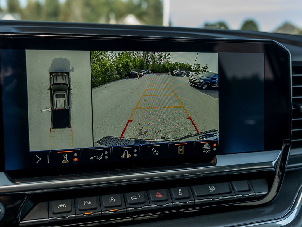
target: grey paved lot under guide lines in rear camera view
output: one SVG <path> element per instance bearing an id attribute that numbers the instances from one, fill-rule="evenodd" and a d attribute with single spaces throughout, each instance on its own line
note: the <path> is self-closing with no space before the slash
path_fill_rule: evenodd
<path id="1" fill-rule="evenodd" d="M 92 104 L 95 142 L 104 136 L 160 139 L 218 130 L 218 91 L 191 87 L 188 77 L 165 73 L 114 81 L 92 90 Z"/>

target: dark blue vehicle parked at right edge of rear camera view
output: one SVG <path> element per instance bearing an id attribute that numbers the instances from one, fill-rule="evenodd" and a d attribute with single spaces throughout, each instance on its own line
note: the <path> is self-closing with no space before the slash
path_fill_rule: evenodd
<path id="1" fill-rule="evenodd" d="M 202 90 L 208 87 L 218 87 L 218 73 L 204 72 L 197 76 L 190 77 L 188 82 Z"/>

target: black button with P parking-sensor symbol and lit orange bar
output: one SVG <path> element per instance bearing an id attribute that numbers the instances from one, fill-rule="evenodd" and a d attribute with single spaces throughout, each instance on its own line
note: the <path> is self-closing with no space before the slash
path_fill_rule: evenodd
<path id="1" fill-rule="evenodd" d="M 82 218 L 85 216 L 101 215 L 101 207 L 99 204 L 98 197 L 85 197 L 85 198 L 76 198 L 76 217 Z"/>

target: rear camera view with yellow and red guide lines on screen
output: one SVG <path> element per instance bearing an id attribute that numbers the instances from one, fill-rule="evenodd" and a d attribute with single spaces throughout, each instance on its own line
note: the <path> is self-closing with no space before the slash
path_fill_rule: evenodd
<path id="1" fill-rule="evenodd" d="M 218 53 L 92 51 L 94 147 L 218 139 Z"/>

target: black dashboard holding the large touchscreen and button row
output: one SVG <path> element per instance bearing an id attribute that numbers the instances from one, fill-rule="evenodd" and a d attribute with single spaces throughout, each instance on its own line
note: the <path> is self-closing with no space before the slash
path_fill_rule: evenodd
<path id="1" fill-rule="evenodd" d="M 298 216 L 299 37 L 0 30 L 0 225 L 281 226 Z"/>

